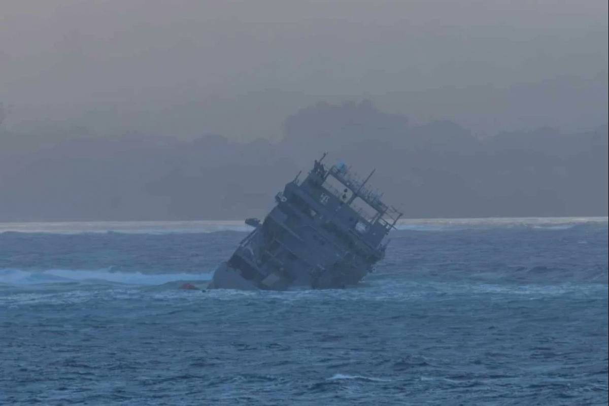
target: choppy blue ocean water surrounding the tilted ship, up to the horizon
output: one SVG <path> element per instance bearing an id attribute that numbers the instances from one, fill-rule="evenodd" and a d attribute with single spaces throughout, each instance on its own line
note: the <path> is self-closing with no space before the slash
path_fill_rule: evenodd
<path id="1" fill-rule="evenodd" d="M 356 287 L 238 292 L 179 287 L 241 222 L 0 224 L 0 404 L 607 404 L 607 218 L 398 228 Z"/>

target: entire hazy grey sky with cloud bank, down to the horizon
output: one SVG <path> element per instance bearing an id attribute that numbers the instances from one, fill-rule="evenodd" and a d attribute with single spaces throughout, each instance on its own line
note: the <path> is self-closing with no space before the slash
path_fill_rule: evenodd
<path id="1" fill-rule="evenodd" d="M 407 217 L 607 215 L 607 15 L 3 1 L 0 221 L 263 215 L 325 150 Z"/>

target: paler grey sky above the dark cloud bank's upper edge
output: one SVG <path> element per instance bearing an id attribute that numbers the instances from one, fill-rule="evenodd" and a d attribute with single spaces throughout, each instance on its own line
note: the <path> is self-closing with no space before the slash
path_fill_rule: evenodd
<path id="1" fill-rule="evenodd" d="M 474 133 L 607 122 L 607 1 L 0 0 L 6 125 L 277 139 L 367 98 Z M 44 124 L 43 127 L 48 125 Z"/>

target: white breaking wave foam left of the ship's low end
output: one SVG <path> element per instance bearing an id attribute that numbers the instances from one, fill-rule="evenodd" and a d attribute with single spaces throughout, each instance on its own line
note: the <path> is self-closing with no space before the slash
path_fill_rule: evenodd
<path id="1" fill-rule="evenodd" d="M 161 273 L 113 272 L 110 268 L 98 270 L 49 269 L 26 271 L 0 269 L 0 284 L 31 285 L 58 282 L 104 281 L 134 285 L 161 285 L 174 281 L 208 281 L 209 273 Z"/>

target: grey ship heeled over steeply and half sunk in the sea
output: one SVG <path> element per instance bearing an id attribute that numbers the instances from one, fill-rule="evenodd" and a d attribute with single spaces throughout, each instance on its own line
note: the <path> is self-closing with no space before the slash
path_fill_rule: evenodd
<path id="1" fill-rule="evenodd" d="M 381 201 L 345 164 L 315 160 L 275 196 L 277 205 L 214 273 L 209 288 L 284 290 L 356 284 L 385 255 L 402 213 Z"/>

